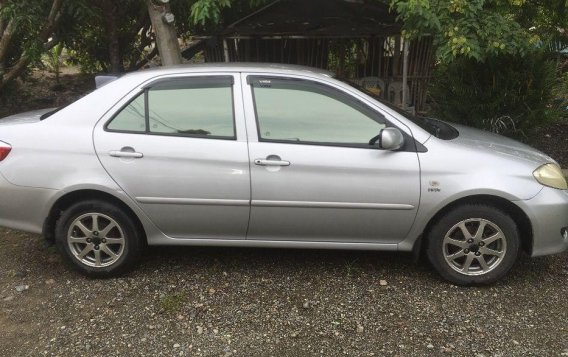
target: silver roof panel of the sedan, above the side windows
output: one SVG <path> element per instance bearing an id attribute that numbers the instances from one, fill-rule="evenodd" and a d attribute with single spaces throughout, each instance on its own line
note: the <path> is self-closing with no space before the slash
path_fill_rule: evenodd
<path id="1" fill-rule="evenodd" d="M 180 70 L 186 73 L 191 72 L 257 72 L 257 73 L 306 73 L 317 74 L 325 77 L 334 77 L 333 72 L 307 66 L 280 63 L 241 63 L 241 62 L 215 62 L 215 63 L 195 63 L 182 64 L 168 67 L 153 67 L 138 72 L 139 74 L 168 74 L 179 73 Z"/>

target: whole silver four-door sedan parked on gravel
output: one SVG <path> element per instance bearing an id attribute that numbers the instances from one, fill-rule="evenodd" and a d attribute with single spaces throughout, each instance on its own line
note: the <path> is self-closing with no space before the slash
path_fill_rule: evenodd
<path id="1" fill-rule="evenodd" d="M 0 197 L 1 226 L 99 277 L 209 245 L 414 252 L 471 285 L 568 248 L 550 157 L 294 66 L 146 70 L 0 120 Z"/>

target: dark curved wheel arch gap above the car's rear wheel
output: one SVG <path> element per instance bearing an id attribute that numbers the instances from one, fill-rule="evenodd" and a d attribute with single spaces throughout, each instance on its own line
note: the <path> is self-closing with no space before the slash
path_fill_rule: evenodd
<path id="1" fill-rule="evenodd" d="M 77 191 L 68 192 L 65 195 L 59 197 L 51 206 L 47 217 L 43 223 L 42 233 L 44 238 L 51 243 L 55 242 L 55 226 L 61 214 L 69 207 L 78 202 L 88 201 L 88 200 L 98 200 L 108 202 L 120 208 L 124 213 L 126 213 L 135 223 L 137 232 L 140 234 L 144 242 L 146 242 L 146 232 L 142 222 L 134 213 L 132 208 L 128 206 L 124 201 L 111 195 L 110 193 L 93 190 L 93 189 L 82 189 Z"/>

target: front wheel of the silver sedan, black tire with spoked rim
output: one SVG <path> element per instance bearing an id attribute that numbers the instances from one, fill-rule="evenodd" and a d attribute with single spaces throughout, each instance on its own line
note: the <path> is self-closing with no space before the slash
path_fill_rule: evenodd
<path id="1" fill-rule="evenodd" d="M 486 285 L 511 270 L 519 246 L 517 225 L 509 215 L 492 206 L 462 205 L 433 224 L 426 254 L 444 279 L 457 285 Z"/>

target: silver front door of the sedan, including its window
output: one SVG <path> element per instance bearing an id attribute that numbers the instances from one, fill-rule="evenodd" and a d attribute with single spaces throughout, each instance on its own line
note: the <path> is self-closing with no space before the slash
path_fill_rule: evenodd
<path id="1" fill-rule="evenodd" d="M 417 153 L 369 144 L 392 123 L 327 84 L 263 76 L 248 83 L 248 239 L 403 240 L 419 204 Z"/>

